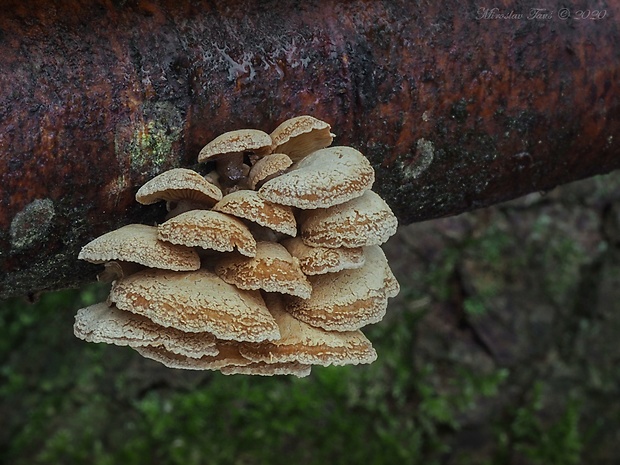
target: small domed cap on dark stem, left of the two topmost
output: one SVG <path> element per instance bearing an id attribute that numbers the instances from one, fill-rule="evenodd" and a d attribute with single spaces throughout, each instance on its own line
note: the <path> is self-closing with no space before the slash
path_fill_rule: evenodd
<path id="1" fill-rule="evenodd" d="M 198 162 L 203 163 L 232 153 L 254 152 L 266 155 L 271 151 L 271 137 L 258 129 L 239 129 L 220 134 L 198 154 Z"/>

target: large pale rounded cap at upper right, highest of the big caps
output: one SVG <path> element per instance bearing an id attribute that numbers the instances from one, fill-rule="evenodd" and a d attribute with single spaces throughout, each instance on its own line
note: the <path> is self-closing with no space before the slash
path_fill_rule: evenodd
<path id="1" fill-rule="evenodd" d="M 258 195 L 301 209 L 327 208 L 359 197 L 374 181 L 375 172 L 364 155 L 351 147 L 329 147 L 267 181 Z"/>

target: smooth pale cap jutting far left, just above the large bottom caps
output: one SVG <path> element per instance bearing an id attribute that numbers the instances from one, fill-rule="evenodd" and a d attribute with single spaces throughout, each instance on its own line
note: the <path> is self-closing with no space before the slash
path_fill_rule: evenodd
<path id="1" fill-rule="evenodd" d="M 174 271 L 200 268 L 195 250 L 157 240 L 157 228 L 144 224 L 128 224 L 99 236 L 82 247 L 78 258 L 91 263 L 133 262 Z"/>

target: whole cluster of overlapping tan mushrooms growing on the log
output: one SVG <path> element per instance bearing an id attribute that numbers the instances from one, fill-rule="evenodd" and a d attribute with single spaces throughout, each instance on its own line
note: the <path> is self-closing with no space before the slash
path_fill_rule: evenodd
<path id="1" fill-rule="evenodd" d="M 83 247 L 112 288 L 78 311 L 75 335 L 225 374 L 373 362 L 360 329 L 399 291 L 379 247 L 397 221 L 368 160 L 330 147 L 330 129 L 300 116 L 228 132 L 200 152 L 205 176 L 177 168 L 142 186 L 136 200 L 168 216 Z"/>

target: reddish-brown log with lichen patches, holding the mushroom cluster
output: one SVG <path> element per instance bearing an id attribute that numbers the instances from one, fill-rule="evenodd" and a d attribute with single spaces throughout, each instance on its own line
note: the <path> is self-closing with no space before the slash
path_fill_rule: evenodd
<path id="1" fill-rule="evenodd" d="M 92 279 L 83 244 L 161 216 L 146 180 L 299 114 L 368 156 L 403 223 L 618 168 L 620 5 L 545 6 L 3 2 L 0 297 Z"/>

